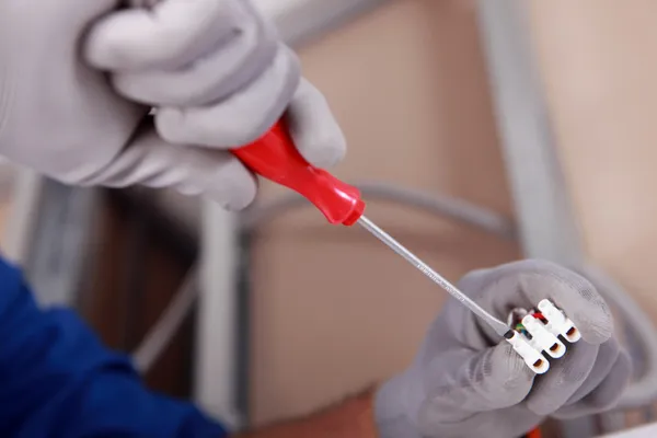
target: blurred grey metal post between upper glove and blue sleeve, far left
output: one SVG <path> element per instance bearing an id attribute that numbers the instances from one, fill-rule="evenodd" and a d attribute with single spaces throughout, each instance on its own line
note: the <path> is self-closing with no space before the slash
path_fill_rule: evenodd
<path id="1" fill-rule="evenodd" d="M 4 256 L 20 265 L 41 304 L 76 307 L 93 258 L 88 244 L 97 189 L 18 172 L 4 231 Z"/>

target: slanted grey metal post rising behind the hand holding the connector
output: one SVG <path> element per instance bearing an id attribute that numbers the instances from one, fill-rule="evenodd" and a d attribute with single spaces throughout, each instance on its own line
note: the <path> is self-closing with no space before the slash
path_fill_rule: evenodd
<path id="1" fill-rule="evenodd" d="M 572 210 L 532 55 L 527 3 L 479 0 L 477 5 L 481 41 L 523 255 L 583 266 L 585 254 L 579 224 Z M 612 419 L 612 416 L 606 418 Z M 562 422 L 561 429 L 564 438 L 597 435 L 591 417 Z"/>

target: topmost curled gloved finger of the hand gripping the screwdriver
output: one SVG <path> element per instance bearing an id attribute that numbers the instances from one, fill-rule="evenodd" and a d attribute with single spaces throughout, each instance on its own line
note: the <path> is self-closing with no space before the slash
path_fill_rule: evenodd
<path id="1" fill-rule="evenodd" d="M 256 24 L 237 1 L 163 0 L 99 21 L 85 56 L 107 70 L 177 69 Z"/>

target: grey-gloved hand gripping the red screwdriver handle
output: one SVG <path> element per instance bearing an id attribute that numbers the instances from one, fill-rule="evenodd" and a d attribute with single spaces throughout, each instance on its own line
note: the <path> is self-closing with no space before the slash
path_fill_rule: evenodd
<path id="1" fill-rule="evenodd" d="M 306 159 L 343 157 L 324 97 L 250 1 L 119 4 L 0 2 L 0 154 L 66 183 L 173 186 L 230 209 L 256 183 L 227 149 L 286 110 Z"/>

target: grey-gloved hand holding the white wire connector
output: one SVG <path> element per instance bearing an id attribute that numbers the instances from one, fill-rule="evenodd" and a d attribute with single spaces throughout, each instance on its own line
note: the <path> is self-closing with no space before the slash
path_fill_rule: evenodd
<path id="1" fill-rule="evenodd" d="M 583 338 L 537 377 L 510 344 L 450 299 L 414 364 L 379 390 L 382 438 L 517 438 L 546 416 L 599 413 L 619 400 L 631 374 L 612 316 L 593 286 L 554 264 L 523 261 L 476 270 L 459 284 L 506 320 L 514 308 L 549 298 Z"/>

